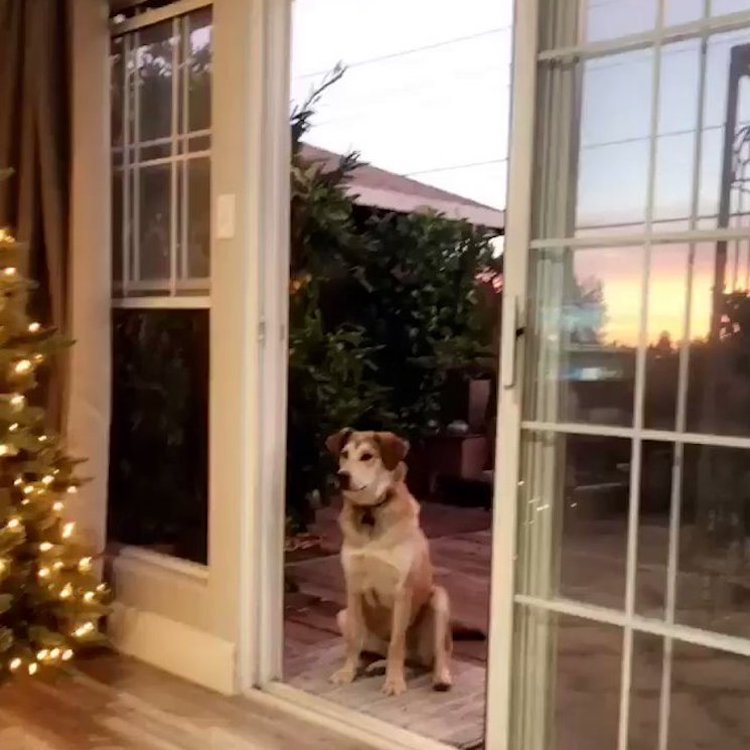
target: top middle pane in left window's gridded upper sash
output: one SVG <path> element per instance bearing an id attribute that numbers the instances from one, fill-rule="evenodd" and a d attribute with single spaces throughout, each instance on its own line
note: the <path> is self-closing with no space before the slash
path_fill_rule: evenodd
<path id="1" fill-rule="evenodd" d="M 141 142 L 172 132 L 173 47 L 178 43 L 173 30 L 173 22 L 166 21 L 136 33 Z"/>

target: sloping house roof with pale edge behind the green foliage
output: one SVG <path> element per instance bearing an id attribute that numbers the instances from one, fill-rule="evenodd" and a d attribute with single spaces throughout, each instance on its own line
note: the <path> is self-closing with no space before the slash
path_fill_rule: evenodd
<path id="1" fill-rule="evenodd" d="M 330 165 L 331 169 L 341 158 L 333 151 L 308 143 L 302 144 L 302 156 L 309 161 Z M 449 218 L 465 219 L 475 226 L 495 229 L 499 234 L 505 230 L 504 211 L 369 164 L 357 167 L 352 173 L 348 193 L 361 206 L 399 213 L 431 209 Z"/>

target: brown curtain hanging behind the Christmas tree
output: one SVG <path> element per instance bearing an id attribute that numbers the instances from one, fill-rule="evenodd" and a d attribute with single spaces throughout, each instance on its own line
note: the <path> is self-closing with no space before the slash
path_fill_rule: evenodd
<path id="1" fill-rule="evenodd" d="M 0 226 L 29 242 L 40 284 L 31 309 L 63 332 L 67 316 L 69 65 L 67 0 L 0 0 Z M 50 422 L 62 428 L 66 360 L 44 383 Z"/>

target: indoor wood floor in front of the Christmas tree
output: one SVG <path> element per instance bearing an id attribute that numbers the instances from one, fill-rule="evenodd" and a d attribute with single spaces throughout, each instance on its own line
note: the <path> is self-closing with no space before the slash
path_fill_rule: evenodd
<path id="1" fill-rule="evenodd" d="M 0 689 L 0 750 L 366 750 L 116 655 Z"/>

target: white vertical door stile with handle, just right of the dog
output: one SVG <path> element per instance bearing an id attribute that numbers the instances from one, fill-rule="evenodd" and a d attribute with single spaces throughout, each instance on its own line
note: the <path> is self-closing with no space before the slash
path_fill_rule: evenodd
<path id="1" fill-rule="evenodd" d="M 523 382 L 523 347 L 520 344 L 526 320 L 531 241 L 539 0 L 516 0 L 513 27 L 503 329 L 498 378 L 487 656 L 487 750 L 506 750 L 511 741 L 510 680 L 513 667 L 513 591 Z"/>

